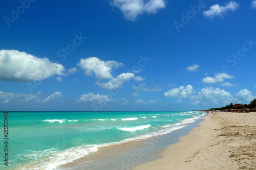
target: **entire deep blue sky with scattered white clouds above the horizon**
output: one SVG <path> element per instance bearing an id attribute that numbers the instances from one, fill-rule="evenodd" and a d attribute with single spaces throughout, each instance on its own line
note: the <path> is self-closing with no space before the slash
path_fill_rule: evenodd
<path id="1" fill-rule="evenodd" d="M 185 111 L 256 98 L 256 1 L 8 1 L 0 110 Z"/>

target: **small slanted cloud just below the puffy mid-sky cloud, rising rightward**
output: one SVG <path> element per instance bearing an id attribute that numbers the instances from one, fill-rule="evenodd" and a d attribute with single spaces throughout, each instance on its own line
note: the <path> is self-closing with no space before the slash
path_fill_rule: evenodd
<path id="1" fill-rule="evenodd" d="M 133 73 L 127 72 L 122 73 L 121 75 L 117 76 L 117 78 L 111 79 L 108 82 L 100 83 L 97 81 L 95 84 L 104 89 L 115 90 L 121 88 L 124 82 L 130 81 L 133 77 Z"/>

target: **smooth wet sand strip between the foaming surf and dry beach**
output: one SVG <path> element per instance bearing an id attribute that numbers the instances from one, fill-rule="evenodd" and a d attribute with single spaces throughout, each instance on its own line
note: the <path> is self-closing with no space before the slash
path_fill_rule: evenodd
<path id="1" fill-rule="evenodd" d="M 99 148 L 97 152 L 60 165 L 57 169 L 132 169 L 141 163 L 160 158 L 165 147 L 179 142 L 181 136 L 193 131 L 193 128 L 198 127 L 198 123 L 203 121 L 204 116 L 171 133 Z"/>

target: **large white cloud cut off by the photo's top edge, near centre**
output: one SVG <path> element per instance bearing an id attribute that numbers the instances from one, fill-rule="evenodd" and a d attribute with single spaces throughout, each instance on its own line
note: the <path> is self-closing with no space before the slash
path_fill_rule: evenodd
<path id="1" fill-rule="evenodd" d="M 113 0 L 111 5 L 118 8 L 125 19 L 135 21 L 139 14 L 155 14 L 165 8 L 165 0 Z"/>

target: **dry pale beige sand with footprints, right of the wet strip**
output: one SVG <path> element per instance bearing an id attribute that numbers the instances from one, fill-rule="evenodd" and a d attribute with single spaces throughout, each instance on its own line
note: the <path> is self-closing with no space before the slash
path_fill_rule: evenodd
<path id="1" fill-rule="evenodd" d="M 136 169 L 256 169 L 256 113 L 210 113 L 200 127 Z"/>

